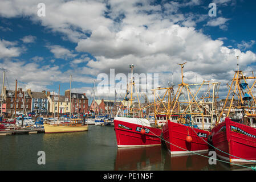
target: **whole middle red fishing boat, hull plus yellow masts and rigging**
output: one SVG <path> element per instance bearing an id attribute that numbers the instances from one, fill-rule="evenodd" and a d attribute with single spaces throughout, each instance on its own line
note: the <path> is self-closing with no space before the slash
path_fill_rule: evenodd
<path id="1" fill-rule="evenodd" d="M 170 154 L 178 155 L 191 154 L 192 152 L 207 152 L 209 150 L 209 145 L 207 142 L 210 132 L 205 130 L 203 127 L 205 118 L 210 116 L 213 117 L 214 107 L 212 107 L 212 110 L 208 110 L 208 113 L 206 113 L 206 110 L 203 110 L 202 108 L 207 108 L 206 106 L 208 105 L 213 106 L 216 97 L 212 97 L 212 101 L 209 102 L 204 100 L 198 101 L 195 98 L 198 98 L 196 96 L 197 93 L 201 94 L 200 88 L 202 88 L 204 85 L 209 88 L 208 93 L 210 93 L 210 90 L 212 90 L 213 96 L 216 96 L 216 92 L 214 89 L 210 89 L 210 85 L 216 87 L 216 85 L 220 84 L 218 82 L 205 83 L 204 81 L 202 84 L 200 84 L 200 88 L 193 88 L 196 90 L 193 90 L 192 92 L 191 87 L 196 86 L 197 84 L 185 84 L 183 82 L 184 76 L 182 75 L 182 68 L 184 67 L 184 64 L 180 64 L 182 82 L 179 84 L 177 93 L 174 96 L 174 100 L 171 104 L 172 109 L 168 114 L 168 116 L 178 115 L 177 120 L 172 120 L 173 117 L 168 117 L 170 118 L 168 119 L 168 123 L 162 127 L 162 137 L 165 140 L 168 151 Z M 205 98 L 205 96 L 202 98 Z M 202 128 L 195 125 L 198 115 L 202 117 Z"/>

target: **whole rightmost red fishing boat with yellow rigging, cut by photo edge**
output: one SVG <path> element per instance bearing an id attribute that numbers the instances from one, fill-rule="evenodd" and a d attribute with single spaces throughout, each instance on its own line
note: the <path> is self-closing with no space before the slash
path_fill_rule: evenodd
<path id="1" fill-rule="evenodd" d="M 256 163 L 256 113 L 252 94 L 256 81 L 249 86 L 247 79 L 256 77 L 246 77 L 239 69 L 235 71 L 217 125 L 212 129 L 217 155 L 231 165 Z M 236 110 L 242 110 L 242 113 L 237 114 Z M 221 118 L 224 116 L 226 118 Z"/>

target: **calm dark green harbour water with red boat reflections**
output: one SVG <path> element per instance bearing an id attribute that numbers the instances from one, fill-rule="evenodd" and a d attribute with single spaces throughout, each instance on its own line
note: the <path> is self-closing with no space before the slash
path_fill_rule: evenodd
<path id="1" fill-rule="evenodd" d="M 17 134 L 0 137 L 0 170 L 245 170 L 199 155 L 170 156 L 164 145 L 117 148 L 114 128 L 89 126 L 64 134 Z M 46 164 L 38 164 L 38 151 Z M 208 156 L 207 154 L 204 154 Z"/>

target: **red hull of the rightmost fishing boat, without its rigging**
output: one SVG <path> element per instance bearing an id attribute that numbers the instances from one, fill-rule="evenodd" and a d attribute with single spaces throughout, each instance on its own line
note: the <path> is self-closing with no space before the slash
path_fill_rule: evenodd
<path id="1" fill-rule="evenodd" d="M 213 146 L 227 153 L 216 150 L 220 158 L 235 164 L 256 162 L 256 129 L 253 127 L 226 118 L 224 122 L 213 128 L 212 135 Z"/>

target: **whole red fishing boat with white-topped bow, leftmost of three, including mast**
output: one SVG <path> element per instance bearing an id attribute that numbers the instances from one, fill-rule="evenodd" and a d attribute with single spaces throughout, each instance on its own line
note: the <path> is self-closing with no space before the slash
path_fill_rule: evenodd
<path id="1" fill-rule="evenodd" d="M 133 71 L 134 66 L 130 65 Z M 131 86 L 131 87 L 130 87 Z M 161 145 L 161 129 L 151 127 L 148 119 L 143 118 L 143 113 L 139 103 L 139 115 L 136 114 L 136 110 L 132 108 L 133 98 L 132 91 L 135 83 L 133 81 L 133 72 L 131 82 L 127 86 L 127 94 L 122 102 L 122 105 L 114 118 L 115 133 L 117 140 L 117 147 L 143 147 L 143 146 L 156 146 Z M 128 94 L 131 91 L 131 99 L 128 98 Z M 139 96 L 137 95 L 137 98 Z M 139 101 L 139 99 L 138 99 Z M 127 102 L 125 108 L 124 102 Z M 131 107 L 129 107 L 131 102 Z M 124 112 L 121 109 L 126 109 Z M 118 115 L 121 115 L 119 117 Z"/>

